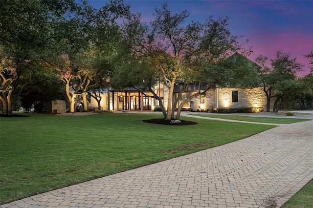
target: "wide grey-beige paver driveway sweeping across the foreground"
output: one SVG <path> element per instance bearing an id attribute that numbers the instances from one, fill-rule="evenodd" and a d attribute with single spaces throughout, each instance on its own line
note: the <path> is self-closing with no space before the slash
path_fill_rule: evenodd
<path id="1" fill-rule="evenodd" d="M 0 208 L 275 208 L 311 179 L 313 121 L 308 121 Z"/>

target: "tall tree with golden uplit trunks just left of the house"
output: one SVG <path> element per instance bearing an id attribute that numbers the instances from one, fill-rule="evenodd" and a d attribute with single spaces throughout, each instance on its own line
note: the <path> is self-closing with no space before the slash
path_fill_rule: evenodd
<path id="1" fill-rule="evenodd" d="M 80 28 L 81 39 L 80 42 L 70 42 L 65 53 L 69 64 L 61 70 L 66 87 L 71 84 L 71 90 L 67 90 L 70 112 L 75 110 L 72 102 L 77 102 L 78 95 L 82 96 L 84 111 L 88 110 L 87 92 L 99 84 L 92 81 L 98 79 L 100 74 L 105 75 L 99 73 L 103 67 L 96 63 L 97 59 L 103 60 L 114 53 L 115 42 L 119 40 L 117 19 L 128 15 L 129 6 L 124 5 L 122 0 L 114 0 L 100 10 L 86 7 L 83 15 L 74 18 L 73 31 Z M 67 71 L 64 72 L 64 69 Z"/>

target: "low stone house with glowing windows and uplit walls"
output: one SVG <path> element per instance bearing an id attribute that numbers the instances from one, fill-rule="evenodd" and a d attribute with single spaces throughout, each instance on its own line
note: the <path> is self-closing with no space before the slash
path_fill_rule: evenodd
<path id="1" fill-rule="evenodd" d="M 244 57 L 241 54 L 235 53 L 230 58 L 236 61 L 238 56 Z M 244 58 L 246 59 L 246 57 Z M 251 62 L 250 60 L 248 61 Z M 173 100 L 178 97 L 182 86 L 183 83 L 177 83 L 173 92 Z M 197 93 L 198 88 L 199 84 L 189 84 L 188 89 L 184 92 L 182 97 L 189 97 Z M 159 83 L 154 87 L 154 92 L 163 100 L 163 105 L 166 107 L 169 96 L 168 89 L 163 83 Z M 136 89 L 132 87 L 125 88 L 122 91 L 110 89 L 107 93 L 102 94 L 102 100 L 102 109 L 111 111 L 151 111 L 155 110 L 156 106 L 159 105 L 158 100 L 155 99 L 153 93 L 149 90 Z M 273 102 L 271 103 L 273 104 Z M 185 104 L 183 106 L 183 110 L 207 111 L 213 108 L 251 107 L 266 109 L 266 104 L 266 94 L 261 86 L 241 88 L 213 86 L 207 91 L 205 96 L 198 96 L 192 99 L 189 103 Z M 97 108 L 97 102 L 93 98 L 91 99 L 91 106 Z M 178 108 L 178 106 L 176 107 Z"/>

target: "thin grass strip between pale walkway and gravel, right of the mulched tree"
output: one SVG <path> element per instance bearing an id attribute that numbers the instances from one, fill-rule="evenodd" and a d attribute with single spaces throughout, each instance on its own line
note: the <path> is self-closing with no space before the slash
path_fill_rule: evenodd
<path id="1" fill-rule="evenodd" d="M 247 122 L 259 122 L 269 124 L 292 124 L 297 122 L 310 121 L 311 119 L 294 119 L 294 118 L 269 118 L 269 117 L 256 117 L 256 116 L 237 116 L 237 115 L 207 115 L 207 114 L 195 114 L 197 116 L 218 118 L 218 119 L 229 119 L 237 121 Z"/>

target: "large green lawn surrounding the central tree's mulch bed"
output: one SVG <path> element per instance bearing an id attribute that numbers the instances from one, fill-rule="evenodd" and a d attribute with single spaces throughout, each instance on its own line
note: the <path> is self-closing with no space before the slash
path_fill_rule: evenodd
<path id="1" fill-rule="evenodd" d="M 274 125 L 184 118 L 198 125 L 142 122 L 161 114 L 32 114 L 0 118 L 0 204 L 220 146 Z"/>

